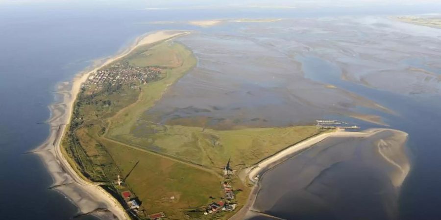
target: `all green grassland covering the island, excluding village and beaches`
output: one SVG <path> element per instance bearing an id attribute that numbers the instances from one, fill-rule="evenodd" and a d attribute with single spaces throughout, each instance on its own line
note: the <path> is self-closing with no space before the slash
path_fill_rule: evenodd
<path id="1" fill-rule="evenodd" d="M 196 58 L 184 45 L 164 41 L 138 47 L 122 60 L 159 66 L 162 76 L 148 84 L 82 89 L 62 146 L 82 176 L 103 182 L 116 195 L 132 191 L 141 201 L 140 219 L 155 212 L 170 219 L 226 219 L 233 213 L 203 216 L 200 208 L 223 196 L 221 166 L 229 158 L 240 170 L 321 132 L 314 126 L 218 131 L 140 120 Z M 118 175 L 123 186 L 114 182 Z M 230 181 L 241 207 L 249 188 L 237 177 Z"/>

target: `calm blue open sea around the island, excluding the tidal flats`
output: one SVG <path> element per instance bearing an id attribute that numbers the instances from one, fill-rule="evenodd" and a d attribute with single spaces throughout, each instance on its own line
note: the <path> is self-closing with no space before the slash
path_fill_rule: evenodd
<path id="1" fill-rule="evenodd" d="M 48 136 L 49 126 L 39 122 L 49 118 L 47 106 L 54 101 L 53 91 L 58 82 L 70 80 L 75 73 L 91 65 L 92 60 L 115 54 L 136 36 L 148 31 L 198 29 L 185 24 L 161 26 L 143 22 L 396 15 L 433 13 L 440 9 L 425 5 L 363 10 L 140 10 L 129 6 L 0 3 L 0 217 L 5 220 L 65 220 L 77 214 L 78 210 L 68 199 L 47 189 L 52 179 L 40 159 L 24 153 L 37 147 Z M 406 213 L 403 219 L 414 219 L 412 217 L 421 212 L 428 217 L 441 214 L 438 207 L 441 204 L 441 160 L 438 156 L 441 154 L 441 137 L 433 132 L 438 128 L 433 121 L 441 121 L 441 99 L 436 98 L 438 103 L 435 98 L 418 100 L 423 104 L 430 103 L 427 105 L 430 108 L 418 107 L 421 110 L 415 119 L 417 123 L 390 123 L 409 132 L 411 142 L 418 143 L 412 145 L 416 146 L 413 151 L 417 160 L 402 194 L 403 213 Z M 405 100 L 402 102 L 403 111 L 412 115 L 416 105 L 407 106 Z M 437 112 L 431 109 L 433 106 L 438 108 Z M 417 127 L 420 125 L 424 126 Z M 435 174 L 438 176 L 434 177 Z"/>

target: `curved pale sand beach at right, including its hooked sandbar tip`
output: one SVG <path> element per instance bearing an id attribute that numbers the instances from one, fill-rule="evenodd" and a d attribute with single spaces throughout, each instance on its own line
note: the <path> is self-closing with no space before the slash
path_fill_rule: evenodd
<path id="1" fill-rule="evenodd" d="M 248 219 L 256 214 L 249 211 L 253 208 L 257 195 L 259 194 L 261 187 L 260 180 L 262 175 L 264 175 L 265 172 L 271 170 L 277 165 L 283 163 L 284 161 L 292 158 L 294 155 L 308 150 L 309 148 L 330 137 L 369 138 L 378 135 L 381 132 L 387 131 L 395 133 L 395 136 L 393 138 L 385 140 L 379 139 L 374 143 L 374 145 L 378 149 L 378 154 L 381 155 L 385 161 L 389 162 L 390 164 L 392 164 L 392 166 L 395 166 L 399 170 L 399 172 L 392 173 L 390 176 L 393 185 L 395 187 L 399 187 L 410 171 L 408 161 L 401 161 L 402 159 L 400 160 L 400 158 L 403 157 L 401 155 L 397 156 L 397 154 L 399 154 L 397 152 L 402 152 L 399 151 L 398 148 L 404 145 L 407 139 L 407 133 L 392 129 L 371 129 L 363 132 L 345 132 L 344 130 L 337 130 L 336 132 L 322 133 L 317 136 L 311 137 L 260 161 L 254 166 L 246 168 L 242 172 L 242 174 L 240 174 L 240 177 L 242 181 L 254 183 L 254 186 L 244 208 L 242 208 L 236 215 L 230 218 L 230 220 Z"/>

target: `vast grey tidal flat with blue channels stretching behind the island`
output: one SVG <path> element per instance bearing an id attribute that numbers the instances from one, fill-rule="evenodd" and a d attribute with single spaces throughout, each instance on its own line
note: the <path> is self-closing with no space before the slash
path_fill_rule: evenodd
<path id="1" fill-rule="evenodd" d="M 433 71 L 440 35 L 428 27 L 376 17 L 224 25 L 229 31 L 220 24 L 222 31 L 179 39 L 198 64 L 146 120 L 231 129 L 346 115 L 384 125 L 372 114 L 393 112 L 371 99 L 370 90 L 440 93 L 441 75 Z"/>

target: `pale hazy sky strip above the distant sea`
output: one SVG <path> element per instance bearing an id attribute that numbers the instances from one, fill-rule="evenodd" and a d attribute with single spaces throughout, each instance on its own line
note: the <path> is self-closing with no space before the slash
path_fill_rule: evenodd
<path id="1" fill-rule="evenodd" d="M 415 7 L 414 7 L 415 5 Z M 1 14 L 15 16 L 17 11 L 25 13 L 46 13 L 56 9 L 74 10 L 254 10 L 256 8 L 284 10 L 287 8 L 331 9 L 357 13 L 427 14 L 440 13 L 441 0 L 0 0 Z M 355 10 L 352 10 L 355 9 Z M 57 10 L 60 11 L 60 10 Z M 0 21 L 1 23 L 1 21 Z"/>

